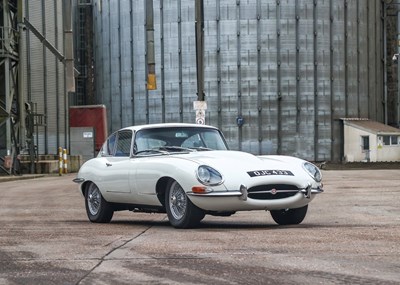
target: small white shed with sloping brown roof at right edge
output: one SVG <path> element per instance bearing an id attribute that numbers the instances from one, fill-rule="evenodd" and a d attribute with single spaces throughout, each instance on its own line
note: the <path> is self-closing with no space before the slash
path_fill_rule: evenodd
<path id="1" fill-rule="evenodd" d="M 400 161 L 400 129 L 369 119 L 342 120 L 345 161 Z"/>

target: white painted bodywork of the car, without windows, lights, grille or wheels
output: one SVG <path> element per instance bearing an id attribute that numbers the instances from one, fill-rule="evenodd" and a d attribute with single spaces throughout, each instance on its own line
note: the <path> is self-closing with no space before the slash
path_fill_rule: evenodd
<path id="1" fill-rule="evenodd" d="M 131 127 L 134 133 L 141 128 L 154 126 L 196 126 L 191 124 L 162 124 Z M 210 128 L 210 127 L 208 127 Z M 255 156 L 230 150 L 178 152 L 162 155 L 130 157 L 99 156 L 87 161 L 77 178 L 95 183 L 108 202 L 146 206 L 162 206 L 156 193 L 156 185 L 162 178 L 176 180 L 185 189 L 189 199 L 205 211 L 276 210 L 298 208 L 307 205 L 322 191 L 322 184 L 315 181 L 303 168 L 305 161 L 289 156 Z M 210 186 L 208 194 L 192 193 L 193 186 L 202 185 L 196 177 L 197 168 L 208 165 L 223 176 L 223 183 Z M 250 177 L 248 171 L 290 171 L 288 175 Z M 290 184 L 299 189 L 309 185 L 310 197 L 297 193 L 292 197 L 275 200 L 244 199 L 241 185 L 247 189 L 265 184 Z M 81 184 L 81 191 L 82 189 Z M 164 189 L 165 190 L 165 189 Z"/>

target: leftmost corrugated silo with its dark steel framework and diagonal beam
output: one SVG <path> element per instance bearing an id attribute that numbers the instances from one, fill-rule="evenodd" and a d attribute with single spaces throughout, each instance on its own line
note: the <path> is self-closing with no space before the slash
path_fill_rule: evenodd
<path id="1" fill-rule="evenodd" d="M 19 173 L 23 155 L 34 172 L 38 154 L 68 146 L 71 7 L 71 0 L 0 4 L 0 174 Z"/>

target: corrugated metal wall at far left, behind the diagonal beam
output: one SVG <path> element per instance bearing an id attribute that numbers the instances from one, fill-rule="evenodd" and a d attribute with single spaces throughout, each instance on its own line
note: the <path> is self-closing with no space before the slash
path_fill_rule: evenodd
<path id="1" fill-rule="evenodd" d="M 64 54 L 62 0 L 25 0 L 25 17 L 46 39 Z M 24 82 L 26 101 L 38 114 L 45 115 L 43 125 L 35 127 L 35 145 L 41 154 L 57 153 L 68 147 L 66 123 L 67 94 L 64 65 L 29 30 L 26 31 Z M 40 122 L 40 119 L 37 121 Z"/>

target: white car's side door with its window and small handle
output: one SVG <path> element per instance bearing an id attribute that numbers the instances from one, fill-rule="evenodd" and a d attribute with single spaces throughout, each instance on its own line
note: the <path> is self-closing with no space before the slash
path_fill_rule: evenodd
<path id="1" fill-rule="evenodd" d="M 100 189 L 112 193 L 128 193 L 130 189 L 130 154 L 132 131 L 121 130 L 109 137 L 108 155 L 103 156 Z"/>

